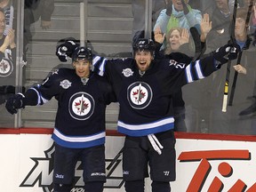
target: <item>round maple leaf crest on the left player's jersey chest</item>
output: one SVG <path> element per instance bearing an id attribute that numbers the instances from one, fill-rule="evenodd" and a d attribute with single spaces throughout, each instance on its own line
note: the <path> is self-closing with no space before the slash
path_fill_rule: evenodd
<path id="1" fill-rule="evenodd" d="M 86 120 L 92 116 L 95 101 L 87 92 L 76 92 L 68 103 L 69 114 L 76 120 Z"/>

